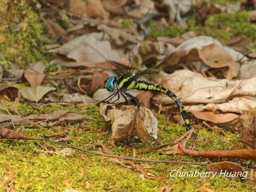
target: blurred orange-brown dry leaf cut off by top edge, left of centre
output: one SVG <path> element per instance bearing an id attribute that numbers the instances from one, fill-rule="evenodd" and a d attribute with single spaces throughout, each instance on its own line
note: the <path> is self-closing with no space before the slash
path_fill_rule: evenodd
<path id="1" fill-rule="evenodd" d="M 78 17 L 109 17 L 100 0 L 71 0 L 69 12 Z"/>

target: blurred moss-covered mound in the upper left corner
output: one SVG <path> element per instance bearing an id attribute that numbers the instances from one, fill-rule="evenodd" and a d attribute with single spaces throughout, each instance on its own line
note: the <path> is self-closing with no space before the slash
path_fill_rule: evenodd
<path id="1" fill-rule="evenodd" d="M 30 3 L 33 0 L 0 2 L 0 52 L 5 60 L 18 65 L 45 61 L 42 54 L 41 23 Z"/>

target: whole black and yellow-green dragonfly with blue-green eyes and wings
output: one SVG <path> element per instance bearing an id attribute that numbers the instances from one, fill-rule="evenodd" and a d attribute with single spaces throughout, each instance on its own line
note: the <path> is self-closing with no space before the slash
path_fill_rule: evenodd
<path id="1" fill-rule="evenodd" d="M 150 42 L 153 42 L 150 44 Z M 181 117 L 183 119 L 183 125 L 186 127 L 186 130 L 189 131 L 191 129 L 191 124 L 189 122 L 189 115 L 187 114 L 183 103 L 180 101 L 180 99 L 177 97 L 177 95 L 175 95 L 175 93 L 173 93 L 171 90 L 166 89 L 165 87 L 161 86 L 161 85 L 157 85 L 157 84 L 153 84 L 147 81 L 143 81 L 141 80 L 141 77 L 149 74 L 150 71 L 153 71 L 153 69 L 158 68 L 159 66 L 162 65 L 162 63 L 164 63 L 165 61 L 171 59 L 172 57 L 172 53 L 166 55 L 163 59 L 160 59 L 159 61 L 156 62 L 156 64 L 154 66 L 151 66 L 149 68 L 147 68 L 146 70 L 143 71 L 139 71 L 138 73 L 134 74 L 134 70 L 136 69 L 137 65 L 139 62 L 141 62 L 142 64 L 146 63 L 150 63 L 153 61 L 156 61 L 156 57 L 155 57 L 155 52 L 156 50 L 153 49 L 156 43 L 158 43 L 157 39 L 155 37 L 147 37 L 140 45 L 139 47 L 139 53 L 137 54 L 137 56 L 135 57 L 135 59 L 133 59 L 132 62 L 129 63 L 128 67 L 119 67 L 119 71 L 121 72 L 121 74 L 119 75 L 119 77 L 109 77 L 108 79 L 106 79 L 105 81 L 105 88 L 111 92 L 111 94 L 104 100 L 102 100 L 101 102 L 108 102 L 111 99 L 113 99 L 114 97 L 116 97 L 117 95 L 117 99 L 115 99 L 114 101 L 112 101 L 111 103 L 117 101 L 120 99 L 121 95 L 122 97 L 124 97 L 125 101 L 127 102 L 127 97 L 131 98 L 137 105 L 137 111 L 140 108 L 140 102 L 139 100 L 134 97 L 133 95 L 131 95 L 130 93 L 128 93 L 127 91 L 129 90 L 142 90 L 142 91 L 153 91 L 153 92 L 159 92 L 159 93 L 163 93 L 165 95 L 167 95 L 168 97 L 170 97 L 175 104 L 178 106 Z M 146 45 L 146 46 L 145 46 Z M 143 50 L 145 47 L 149 47 L 149 49 L 147 50 Z M 152 51 L 153 49 L 153 51 Z M 146 61 L 141 61 L 142 57 L 141 55 L 144 54 L 147 55 L 147 52 L 151 55 L 149 56 Z M 159 54 L 159 53 L 158 53 Z M 111 61 L 113 62 L 113 61 Z M 114 62 L 115 64 L 117 64 L 116 62 Z"/>

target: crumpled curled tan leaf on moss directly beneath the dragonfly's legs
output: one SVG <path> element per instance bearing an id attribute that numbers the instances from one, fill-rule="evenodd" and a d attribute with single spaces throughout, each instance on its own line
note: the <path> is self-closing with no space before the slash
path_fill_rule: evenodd
<path id="1" fill-rule="evenodd" d="M 100 114 L 105 121 L 111 121 L 111 139 L 114 142 L 130 142 L 131 135 L 139 137 L 143 143 L 157 139 L 158 121 L 154 114 L 145 107 L 140 110 L 133 121 L 136 107 L 126 106 L 124 109 L 117 109 L 111 105 L 101 105 Z"/>

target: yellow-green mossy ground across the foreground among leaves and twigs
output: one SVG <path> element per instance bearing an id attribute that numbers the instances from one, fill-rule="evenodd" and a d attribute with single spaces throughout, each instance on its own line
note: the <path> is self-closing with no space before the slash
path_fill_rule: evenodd
<path id="1" fill-rule="evenodd" d="M 6 99 L 1 99 L 6 104 Z M 2 103 L 2 102 L 1 102 Z M 26 114 L 26 103 L 19 106 L 21 114 Z M 85 147 L 95 150 L 97 140 L 105 145 L 109 144 L 111 127 L 99 115 L 98 107 L 91 106 L 84 109 L 77 106 L 44 106 L 30 113 L 52 113 L 52 111 L 67 109 L 81 111 L 82 114 L 97 119 L 94 121 L 82 121 L 66 126 L 54 126 L 51 129 L 41 127 L 41 129 L 21 129 L 20 133 L 30 137 L 43 137 L 43 134 L 49 135 L 68 131 L 70 137 L 79 137 L 75 141 L 69 141 L 69 144 Z M 38 112 L 39 111 L 39 112 Z M 163 142 L 168 142 L 178 138 L 185 133 L 185 128 L 179 125 L 167 122 L 164 116 L 159 116 L 159 138 Z M 86 131 L 81 130 L 87 127 Z M 18 127 L 17 127 L 18 129 Z M 107 132 L 101 134 L 102 132 Z M 151 169 L 145 170 L 148 173 L 156 175 L 156 179 L 143 179 L 138 172 L 130 170 L 121 165 L 112 163 L 106 157 L 100 157 L 81 153 L 81 151 L 72 150 L 72 156 L 64 156 L 58 151 L 63 147 L 50 147 L 57 154 L 42 153 L 44 150 L 41 145 L 50 146 L 52 143 L 38 141 L 15 141 L 2 139 L 0 141 L 0 178 L 8 177 L 14 174 L 14 189 L 16 191 L 64 191 L 67 188 L 78 189 L 79 191 L 158 191 L 161 186 L 170 186 L 173 191 L 195 191 L 197 188 L 207 185 L 213 191 L 251 191 L 255 183 L 250 181 L 240 181 L 239 179 L 220 178 L 213 179 L 199 177 L 196 178 L 178 178 L 169 177 L 174 169 L 184 171 L 207 171 L 206 167 L 193 165 L 178 165 L 164 163 L 145 163 Z M 40 144 L 40 145 L 39 145 Z M 207 130 L 199 130 L 198 138 L 190 141 L 189 145 L 194 145 L 199 150 L 212 149 L 235 149 L 243 148 L 243 143 L 239 142 L 236 134 L 227 133 L 226 136 L 219 135 Z M 132 145 L 109 147 L 117 155 L 132 156 L 132 148 L 139 150 L 149 145 Z M 98 149 L 96 149 L 98 150 Z M 154 151 L 148 154 L 136 155 L 139 158 L 152 159 L 173 159 L 190 162 L 206 162 L 204 158 L 193 158 L 181 155 L 161 155 L 164 149 Z M 219 159 L 219 161 L 231 160 L 245 164 L 245 161 L 239 159 Z M 255 162 L 251 162 L 253 164 Z M 248 175 L 249 176 L 249 175 Z M 7 180 L 2 191 L 8 187 L 11 180 Z"/>

